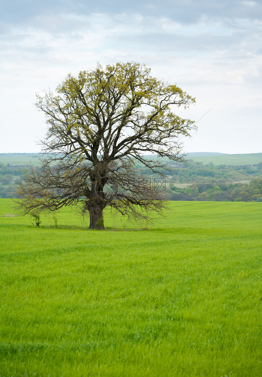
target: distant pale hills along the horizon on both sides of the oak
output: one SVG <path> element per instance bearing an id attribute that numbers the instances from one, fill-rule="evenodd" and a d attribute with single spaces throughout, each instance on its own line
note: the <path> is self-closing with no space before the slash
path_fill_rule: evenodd
<path id="1" fill-rule="evenodd" d="M 41 156 L 43 156 L 41 153 L 0 153 L 0 162 L 4 165 L 10 164 L 11 166 L 26 166 L 29 164 L 37 166 L 40 163 L 39 158 Z M 230 155 L 218 152 L 192 152 L 187 153 L 186 159 L 203 162 L 203 164 L 213 162 L 216 166 L 254 165 L 262 162 L 262 153 Z"/>

